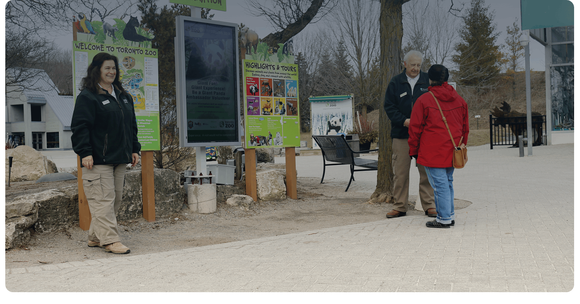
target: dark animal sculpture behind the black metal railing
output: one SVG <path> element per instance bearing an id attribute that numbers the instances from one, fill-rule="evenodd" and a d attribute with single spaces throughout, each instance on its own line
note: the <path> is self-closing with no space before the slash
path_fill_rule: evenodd
<path id="1" fill-rule="evenodd" d="M 502 107 L 498 108 L 497 106 L 490 111 L 492 115 L 498 117 L 500 119 L 496 120 L 496 124 L 502 126 L 502 128 L 506 127 L 506 124 L 509 125 L 509 128 L 512 130 L 512 134 L 514 136 L 524 135 L 524 130 L 528 128 L 527 126 L 527 117 L 525 113 L 521 113 L 518 111 L 511 111 L 512 107 L 509 103 L 502 102 Z M 532 112 L 532 132 L 534 132 L 534 137 L 536 137 L 532 146 L 540 146 L 542 144 L 542 124 L 543 120 L 541 117 L 533 117 L 533 116 L 540 116 L 541 113 Z M 520 124 L 515 124 L 516 122 L 520 122 Z M 531 142 L 532 140 L 530 140 Z M 516 141 L 512 147 L 519 147 L 520 143 Z"/>

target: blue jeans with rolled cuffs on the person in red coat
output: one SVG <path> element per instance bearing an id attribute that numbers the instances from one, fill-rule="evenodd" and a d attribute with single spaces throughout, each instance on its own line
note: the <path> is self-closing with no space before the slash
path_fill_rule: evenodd
<path id="1" fill-rule="evenodd" d="M 455 168 L 432 168 L 425 167 L 427 179 L 435 196 L 435 208 L 437 210 L 437 222 L 451 224 L 455 220 L 455 207 L 453 205 L 453 171 Z"/>

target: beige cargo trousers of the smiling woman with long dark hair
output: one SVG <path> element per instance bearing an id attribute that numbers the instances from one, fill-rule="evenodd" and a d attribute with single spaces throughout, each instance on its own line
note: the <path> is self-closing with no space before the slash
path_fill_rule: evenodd
<path id="1" fill-rule="evenodd" d="M 93 165 L 82 168 L 82 186 L 89 202 L 89 241 L 101 246 L 121 241 L 117 228 L 117 212 L 123 197 L 125 164 Z"/>

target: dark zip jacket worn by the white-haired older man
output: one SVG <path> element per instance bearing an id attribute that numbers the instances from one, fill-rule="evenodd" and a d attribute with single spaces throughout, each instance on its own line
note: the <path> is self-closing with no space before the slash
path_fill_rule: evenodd
<path id="1" fill-rule="evenodd" d="M 429 88 L 429 74 L 420 71 L 419 80 L 411 94 L 411 84 L 407 81 L 405 73 L 407 73 L 406 68 L 403 73 L 393 77 L 385 93 L 385 111 L 391 121 L 391 138 L 409 138 L 409 128 L 403 123 L 411 118 L 415 100 L 428 92 L 427 88 Z"/>

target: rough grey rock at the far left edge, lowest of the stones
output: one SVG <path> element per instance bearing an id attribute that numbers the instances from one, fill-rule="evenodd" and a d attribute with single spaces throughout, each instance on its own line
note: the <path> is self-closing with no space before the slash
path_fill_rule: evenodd
<path id="1" fill-rule="evenodd" d="M 4 249 L 25 245 L 30 241 L 30 227 L 38 219 L 36 200 L 19 200 L 5 203 Z"/>

